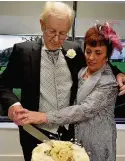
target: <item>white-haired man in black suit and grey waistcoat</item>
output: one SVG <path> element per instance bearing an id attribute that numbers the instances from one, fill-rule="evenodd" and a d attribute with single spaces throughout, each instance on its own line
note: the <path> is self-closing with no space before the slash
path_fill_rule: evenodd
<path id="1" fill-rule="evenodd" d="M 77 92 L 77 74 L 85 59 L 81 48 L 66 41 L 73 20 L 73 10 L 62 2 L 47 2 L 40 18 L 43 39 L 15 44 L 6 70 L 0 76 L 0 102 L 17 124 L 32 123 L 50 138 L 70 140 L 72 126 L 41 124 L 46 112 L 72 105 Z M 112 67 L 115 75 L 119 70 Z M 123 74 L 118 75 L 121 86 Z M 21 88 L 21 102 L 12 93 Z M 121 87 L 124 89 L 124 86 Z M 24 114 L 30 113 L 29 118 Z M 40 143 L 19 126 L 20 143 L 25 161 Z M 61 136 L 60 136 L 61 133 Z"/>

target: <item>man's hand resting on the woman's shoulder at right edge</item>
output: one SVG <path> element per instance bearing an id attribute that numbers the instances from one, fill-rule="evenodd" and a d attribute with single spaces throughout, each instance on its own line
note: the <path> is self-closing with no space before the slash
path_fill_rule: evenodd
<path id="1" fill-rule="evenodd" d="M 117 75 L 117 82 L 120 87 L 119 96 L 125 94 L 125 74 L 119 73 Z"/>

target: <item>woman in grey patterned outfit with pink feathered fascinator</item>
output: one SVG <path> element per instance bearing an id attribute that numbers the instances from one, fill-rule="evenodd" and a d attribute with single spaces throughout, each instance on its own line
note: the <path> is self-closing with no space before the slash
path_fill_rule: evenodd
<path id="1" fill-rule="evenodd" d="M 118 89 L 107 63 L 114 48 L 122 50 L 118 36 L 108 23 L 90 28 L 84 40 L 87 67 L 78 75 L 76 105 L 48 111 L 40 120 L 60 125 L 75 123 L 75 137 L 91 161 L 116 160 L 114 107 Z"/>

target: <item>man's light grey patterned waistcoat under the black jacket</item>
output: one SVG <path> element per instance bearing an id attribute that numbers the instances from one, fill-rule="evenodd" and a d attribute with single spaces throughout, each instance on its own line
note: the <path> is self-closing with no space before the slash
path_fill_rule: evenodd
<path id="1" fill-rule="evenodd" d="M 39 111 L 46 113 L 69 106 L 72 78 L 62 51 L 55 57 L 48 56 L 42 49 L 40 69 Z M 58 129 L 55 124 L 39 124 L 37 127 L 53 133 Z"/>

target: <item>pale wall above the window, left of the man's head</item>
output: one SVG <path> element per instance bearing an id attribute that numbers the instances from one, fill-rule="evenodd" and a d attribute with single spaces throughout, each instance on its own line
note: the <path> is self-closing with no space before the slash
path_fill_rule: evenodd
<path id="1" fill-rule="evenodd" d="M 44 1 L 0 1 L 0 34 L 40 34 Z M 72 2 L 67 2 L 72 6 Z"/>

